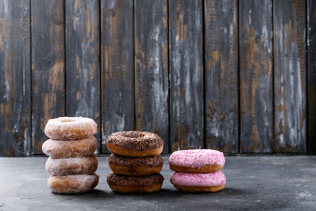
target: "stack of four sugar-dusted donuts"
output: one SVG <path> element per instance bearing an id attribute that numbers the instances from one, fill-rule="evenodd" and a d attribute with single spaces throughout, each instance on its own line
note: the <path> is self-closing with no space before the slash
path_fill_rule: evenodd
<path id="1" fill-rule="evenodd" d="M 42 151 L 49 156 L 45 168 L 51 175 L 47 185 L 52 192 L 85 193 L 97 186 L 96 131 L 97 124 L 86 117 L 48 120 L 44 132 L 50 139 L 43 143 Z"/>

